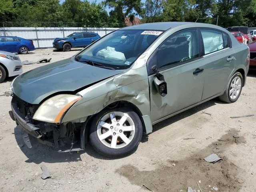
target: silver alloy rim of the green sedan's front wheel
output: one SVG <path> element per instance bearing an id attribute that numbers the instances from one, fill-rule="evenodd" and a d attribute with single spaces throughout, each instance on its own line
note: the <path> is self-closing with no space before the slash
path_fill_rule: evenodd
<path id="1" fill-rule="evenodd" d="M 124 112 L 114 111 L 105 114 L 97 126 L 97 135 L 109 148 L 123 148 L 134 138 L 135 126 L 132 118 Z"/>

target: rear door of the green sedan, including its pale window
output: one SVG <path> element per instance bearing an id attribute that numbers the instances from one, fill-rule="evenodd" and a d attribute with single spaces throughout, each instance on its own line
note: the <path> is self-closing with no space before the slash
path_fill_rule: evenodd
<path id="1" fill-rule="evenodd" d="M 204 92 L 202 100 L 224 91 L 235 66 L 235 52 L 228 34 L 215 29 L 201 29 L 204 47 Z"/>

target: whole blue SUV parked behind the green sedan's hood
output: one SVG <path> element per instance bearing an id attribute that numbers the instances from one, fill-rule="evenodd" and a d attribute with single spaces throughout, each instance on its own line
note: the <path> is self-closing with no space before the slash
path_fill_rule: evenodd
<path id="1" fill-rule="evenodd" d="M 55 38 L 53 47 L 59 50 L 70 51 L 72 47 L 86 47 L 100 38 L 94 32 L 75 32 L 65 38 Z"/>

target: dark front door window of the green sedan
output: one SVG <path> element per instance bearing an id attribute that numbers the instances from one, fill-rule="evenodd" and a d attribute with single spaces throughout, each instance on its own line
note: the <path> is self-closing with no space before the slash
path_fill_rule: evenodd
<path id="1" fill-rule="evenodd" d="M 197 31 L 186 30 L 171 35 L 158 47 L 155 56 L 158 68 L 165 68 L 199 57 Z"/>

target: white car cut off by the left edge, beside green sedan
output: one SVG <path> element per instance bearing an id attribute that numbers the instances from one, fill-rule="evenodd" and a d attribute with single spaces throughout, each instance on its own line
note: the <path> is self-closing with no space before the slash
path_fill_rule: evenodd
<path id="1" fill-rule="evenodd" d="M 0 83 L 7 77 L 22 74 L 22 64 L 18 55 L 0 51 Z"/>

